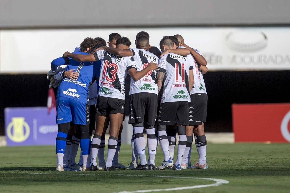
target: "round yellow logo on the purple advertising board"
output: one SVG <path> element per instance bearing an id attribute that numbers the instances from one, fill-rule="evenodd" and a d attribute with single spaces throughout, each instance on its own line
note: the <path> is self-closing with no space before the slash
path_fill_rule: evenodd
<path id="1" fill-rule="evenodd" d="M 12 117 L 11 120 L 6 129 L 7 137 L 13 142 L 24 142 L 30 134 L 29 125 L 24 121 L 24 117 Z"/>

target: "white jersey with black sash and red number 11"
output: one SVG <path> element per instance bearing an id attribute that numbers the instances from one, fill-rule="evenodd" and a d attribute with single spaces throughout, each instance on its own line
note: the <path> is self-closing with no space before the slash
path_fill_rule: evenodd
<path id="1" fill-rule="evenodd" d="M 193 65 L 191 56 L 168 53 L 159 59 L 157 71 L 165 73 L 161 103 L 190 101 L 188 74 Z"/>

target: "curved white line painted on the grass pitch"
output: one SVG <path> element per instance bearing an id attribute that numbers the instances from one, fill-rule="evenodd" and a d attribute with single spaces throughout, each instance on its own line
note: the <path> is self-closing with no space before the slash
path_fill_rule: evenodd
<path id="1" fill-rule="evenodd" d="M 31 173 L 31 172 L 24 172 L 26 174 L 49 174 L 49 175 L 96 175 L 96 174 L 53 174 L 53 173 Z M 23 173 L 22 173 L 23 174 Z M 136 191 L 122 191 L 122 192 L 114 192 L 114 193 L 143 193 L 143 192 L 161 192 L 161 191 L 172 191 L 172 190 L 184 190 L 184 189 L 195 189 L 195 188 L 204 188 L 204 187 L 211 187 L 211 186 L 220 186 L 223 184 L 230 183 L 224 179 L 218 178 L 197 178 L 197 177 L 179 177 L 179 176 L 144 176 L 144 175 L 128 175 L 128 174 L 98 174 L 98 175 L 108 175 L 108 176 L 136 176 L 136 177 L 166 177 L 166 178 L 185 178 L 185 179 L 205 179 L 205 180 L 212 180 L 215 181 L 215 184 L 205 184 L 205 185 L 196 185 L 196 186 L 185 186 L 185 187 L 177 187 L 177 188 L 166 188 L 166 189 L 151 189 L 151 190 L 136 190 Z"/>

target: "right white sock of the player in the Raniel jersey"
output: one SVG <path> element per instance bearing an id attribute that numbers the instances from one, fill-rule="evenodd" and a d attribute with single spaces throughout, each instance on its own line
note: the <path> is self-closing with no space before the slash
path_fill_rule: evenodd
<path id="1" fill-rule="evenodd" d="M 155 165 L 155 155 L 156 155 L 156 147 L 157 141 L 155 136 L 155 128 L 146 129 L 147 133 L 147 148 L 148 148 L 148 165 L 153 164 Z"/>

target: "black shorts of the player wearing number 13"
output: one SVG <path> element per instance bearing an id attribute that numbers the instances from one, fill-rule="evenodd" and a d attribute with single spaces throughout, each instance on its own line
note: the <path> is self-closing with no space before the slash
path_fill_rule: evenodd
<path id="1" fill-rule="evenodd" d="M 96 108 L 96 112 L 104 117 L 108 117 L 109 114 L 125 113 L 125 100 L 98 96 Z"/>

